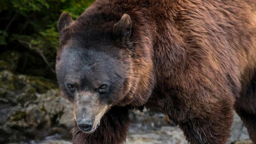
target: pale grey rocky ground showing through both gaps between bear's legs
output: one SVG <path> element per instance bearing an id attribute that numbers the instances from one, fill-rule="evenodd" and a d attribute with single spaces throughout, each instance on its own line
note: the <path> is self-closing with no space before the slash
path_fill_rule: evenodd
<path id="1" fill-rule="evenodd" d="M 183 131 L 175 126 L 162 113 L 147 111 L 130 111 L 131 124 L 127 136 L 127 143 L 187 143 Z M 240 117 L 234 112 L 229 143 L 250 143 L 247 129 Z M 251 142 L 252 143 L 252 142 Z"/>

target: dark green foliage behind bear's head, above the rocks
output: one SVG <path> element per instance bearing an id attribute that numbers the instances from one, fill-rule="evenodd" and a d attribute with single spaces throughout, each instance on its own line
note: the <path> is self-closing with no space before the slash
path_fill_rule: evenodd
<path id="1" fill-rule="evenodd" d="M 59 45 L 57 28 L 59 16 L 63 11 L 67 11 L 76 19 L 93 1 L 2 0 L 0 60 L 5 60 L 6 56 L 1 55 L 6 55 L 6 51 L 8 53 L 19 51 L 20 55 L 16 57 L 19 59 L 15 66 L 17 67 L 16 73 L 55 78 L 55 56 Z"/>

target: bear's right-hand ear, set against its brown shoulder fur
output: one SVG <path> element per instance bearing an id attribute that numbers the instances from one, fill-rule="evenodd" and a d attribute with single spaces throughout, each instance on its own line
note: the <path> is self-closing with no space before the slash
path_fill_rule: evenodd
<path id="1" fill-rule="evenodd" d="M 132 20 L 128 14 L 124 14 L 120 21 L 113 26 L 115 36 L 125 43 L 132 32 Z"/>

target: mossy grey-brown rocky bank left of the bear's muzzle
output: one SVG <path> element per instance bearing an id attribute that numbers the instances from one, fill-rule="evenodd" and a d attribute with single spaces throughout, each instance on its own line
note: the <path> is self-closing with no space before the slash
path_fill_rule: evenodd
<path id="1" fill-rule="evenodd" d="M 43 78 L 0 71 L 0 142 L 69 137 L 72 104 Z M 67 114 L 67 116 L 66 116 Z"/>

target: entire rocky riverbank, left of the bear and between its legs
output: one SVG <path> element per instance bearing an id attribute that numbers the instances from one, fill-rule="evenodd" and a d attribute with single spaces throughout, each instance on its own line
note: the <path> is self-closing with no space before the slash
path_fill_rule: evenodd
<path id="1" fill-rule="evenodd" d="M 0 67 L 1 70 L 1 67 Z M 58 85 L 40 77 L 0 71 L 0 143 L 70 143 L 72 105 Z M 187 143 L 164 114 L 130 111 L 127 144 Z M 235 114 L 229 143 L 250 143 Z"/>

